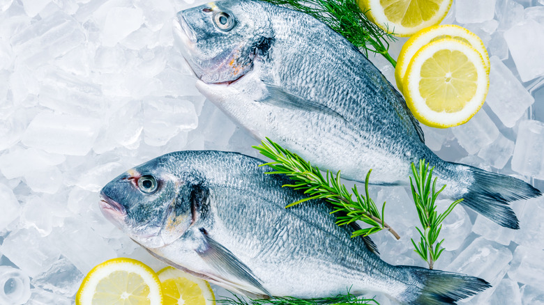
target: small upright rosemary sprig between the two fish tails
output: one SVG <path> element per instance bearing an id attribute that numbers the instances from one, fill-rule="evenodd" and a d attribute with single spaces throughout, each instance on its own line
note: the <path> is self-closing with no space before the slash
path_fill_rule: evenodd
<path id="1" fill-rule="evenodd" d="M 436 246 L 435 242 L 438 240 L 438 235 L 442 228 L 442 221 L 451 213 L 455 205 L 462 201 L 462 198 L 454 201 L 451 205 L 444 211 L 442 214 L 438 214 L 437 205 L 435 201 L 437 200 L 438 194 L 444 190 L 446 185 L 442 186 L 439 191 L 436 191 L 437 187 L 437 178 L 432 180 L 432 170 L 435 169 L 433 166 L 429 169 L 429 164 L 425 164 L 425 160 L 419 161 L 419 171 L 414 166 L 414 163 L 411 164 L 411 171 L 414 174 L 414 180 L 416 186 L 414 187 L 414 182 L 410 177 L 411 185 L 411 194 L 414 197 L 414 202 L 416 203 L 416 208 L 418 211 L 419 221 L 423 230 L 416 227 L 421 235 L 421 240 L 418 244 L 414 242 L 414 239 L 411 240 L 411 243 L 414 244 L 414 251 L 419 254 L 419 256 L 428 263 L 429 269 L 432 269 L 433 264 L 437 261 L 444 248 L 441 248 L 442 239 Z M 432 180 L 432 187 L 431 187 Z"/>

